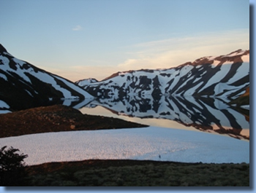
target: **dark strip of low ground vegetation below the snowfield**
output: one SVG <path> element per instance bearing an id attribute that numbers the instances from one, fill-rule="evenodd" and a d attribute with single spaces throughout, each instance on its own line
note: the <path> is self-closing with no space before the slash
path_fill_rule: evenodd
<path id="1" fill-rule="evenodd" d="M 249 164 L 85 160 L 31 166 L 27 186 L 249 186 Z"/>

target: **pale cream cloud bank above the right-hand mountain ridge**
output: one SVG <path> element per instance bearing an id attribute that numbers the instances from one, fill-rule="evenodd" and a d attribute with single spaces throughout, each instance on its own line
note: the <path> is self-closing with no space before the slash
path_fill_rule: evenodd
<path id="1" fill-rule="evenodd" d="M 203 56 L 225 55 L 238 49 L 249 49 L 249 30 L 222 31 L 135 44 L 130 47 L 127 60 L 119 63 L 118 68 L 171 68 Z"/>

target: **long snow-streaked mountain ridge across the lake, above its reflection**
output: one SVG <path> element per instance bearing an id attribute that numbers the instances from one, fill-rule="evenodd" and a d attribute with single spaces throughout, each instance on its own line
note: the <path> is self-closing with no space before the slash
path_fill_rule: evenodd
<path id="1" fill-rule="evenodd" d="M 211 95 L 230 101 L 249 87 L 249 50 L 203 57 L 174 68 L 118 72 L 101 82 L 80 80 L 76 84 L 97 98 Z"/>

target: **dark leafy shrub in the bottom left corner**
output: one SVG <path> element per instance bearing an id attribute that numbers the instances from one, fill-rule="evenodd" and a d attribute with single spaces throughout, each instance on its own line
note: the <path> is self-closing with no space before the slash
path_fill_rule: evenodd
<path id="1" fill-rule="evenodd" d="M 12 146 L 7 150 L 6 148 L 7 146 L 4 146 L 0 149 L 0 185 L 20 186 L 26 176 L 23 159 L 28 155 L 16 153 L 20 150 Z"/>

